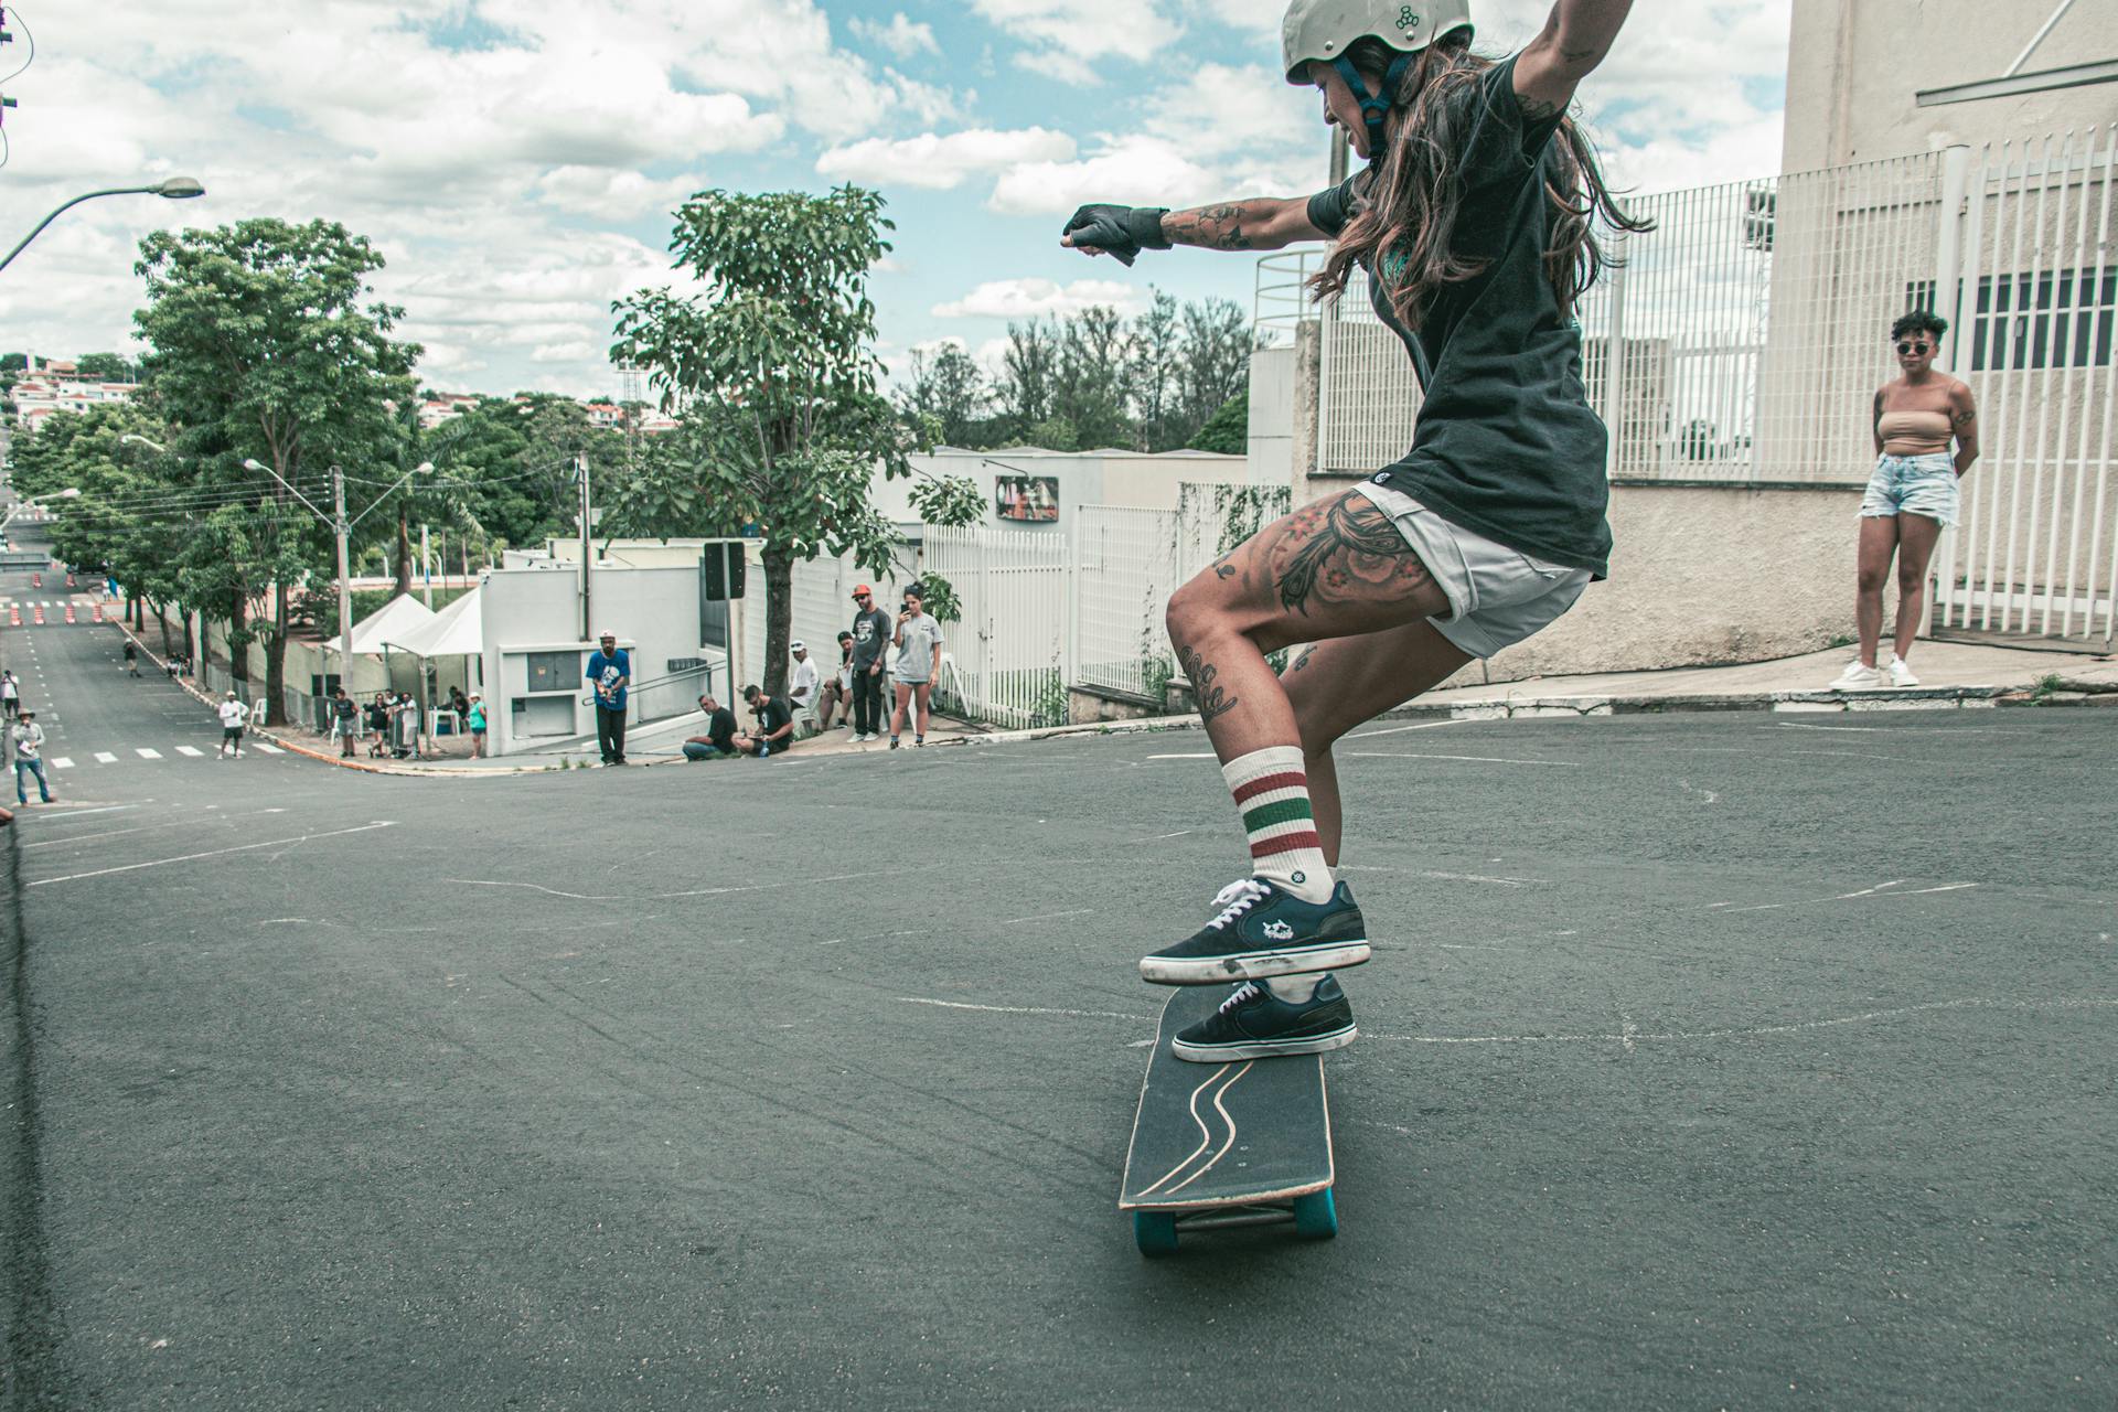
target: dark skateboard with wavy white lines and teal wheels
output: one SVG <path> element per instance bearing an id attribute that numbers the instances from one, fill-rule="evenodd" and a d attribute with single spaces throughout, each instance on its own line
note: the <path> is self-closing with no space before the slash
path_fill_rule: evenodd
<path id="1" fill-rule="evenodd" d="M 1195 1065 L 1169 1050 L 1226 995 L 1182 986 L 1163 1006 L 1118 1192 L 1142 1255 L 1175 1251 L 1180 1232 L 1228 1226 L 1292 1221 L 1313 1241 L 1339 1234 L 1324 1056 Z"/>

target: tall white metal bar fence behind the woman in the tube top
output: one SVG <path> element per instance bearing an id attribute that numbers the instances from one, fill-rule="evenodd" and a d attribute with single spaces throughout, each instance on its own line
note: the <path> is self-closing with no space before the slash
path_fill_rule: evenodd
<path id="1" fill-rule="evenodd" d="M 1942 366 L 1978 396 L 1982 442 L 1936 555 L 1940 620 L 2110 641 L 2114 191 L 2105 125 L 1629 199 L 1656 229 L 1610 243 L 1625 267 L 1578 309 L 1610 474 L 1864 483 L 1870 400 L 1896 377 L 1889 324 L 1938 309 Z M 1313 258 L 1260 263 L 1264 332 L 1288 324 Z M 1413 440 L 1411 360 L 1360 282 L 1324 320 L 1320 466 L 1375 470 Z"/>

